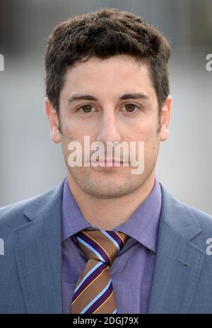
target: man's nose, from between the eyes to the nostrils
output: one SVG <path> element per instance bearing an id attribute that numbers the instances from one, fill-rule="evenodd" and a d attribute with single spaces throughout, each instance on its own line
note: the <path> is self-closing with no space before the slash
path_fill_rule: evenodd
<path id="1" fill-rule="evenodd" d="M 103 142 L 105 146 L 107 145 L 107 142 L 121 142 L 114 109 L 107 109 L 102 111 L 100 126 L 96 138 L 96 141 Z"/>

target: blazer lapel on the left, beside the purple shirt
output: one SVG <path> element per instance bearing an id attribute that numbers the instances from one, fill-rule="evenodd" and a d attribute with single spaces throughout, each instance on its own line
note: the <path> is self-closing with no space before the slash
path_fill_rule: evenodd
<path id="1" fill-rule="evenodd" d="M 64 181 L 35 201 L 14 230 L 18 276 L 28 313 L 61 313 L 61 200 Z"/>

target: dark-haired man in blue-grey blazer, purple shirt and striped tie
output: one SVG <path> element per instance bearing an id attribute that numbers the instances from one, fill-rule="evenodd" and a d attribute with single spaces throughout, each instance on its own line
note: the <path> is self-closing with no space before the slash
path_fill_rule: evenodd
<path id="1" fill-rule="evenodd" d="M 53 30 L 45 113 L 67 176 L 0 210 L 0 312 L 212 312 L 211 216 L 180 203 L 155 176 L 170 124 L 169 58 L 158 30 L 117 9 Z M 122 142 L 136 148 L 116 166 L 102 145 Z M 73 145 L 83 164 L 73 165 Z M 144 161 L 137 174 L 133 154 Z"/>

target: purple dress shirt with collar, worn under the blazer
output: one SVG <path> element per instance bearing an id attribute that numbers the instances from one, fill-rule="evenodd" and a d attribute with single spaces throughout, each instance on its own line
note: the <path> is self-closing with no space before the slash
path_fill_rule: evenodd
<path id="1" fill-rule="evenodd" d="M 129 235 L 110 268 L 118 314 L 147 313 L 160 209 L 161 190 L 156 177 L 146 200 L 126 222 L 113 229 Z M 62 302 L 63 313 L 69 313 L 78 277 L 86 266 L 86 257 L 72 236 L 83 229 L 99 229 L 90 226 L 83 217 L 67 179 L 64 183 L 62 215 Z"/>

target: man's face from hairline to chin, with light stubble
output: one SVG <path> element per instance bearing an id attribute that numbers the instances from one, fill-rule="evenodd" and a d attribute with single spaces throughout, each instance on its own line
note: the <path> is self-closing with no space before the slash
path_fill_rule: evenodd
<path id="1" fill-rule="evenodd" d="M 93 98 L 71 101 L 76 94 Z M 123 98 L 126 94 L 143 96 Z M 52 140 L 61 142 L 69 181 L 96 198 L 121 197 L 144 186 L 155 170 L 160 140 L 167 137 L 170 117 L 170 100 L 167 100 L 162 108 L 162 128 L 158 132 L 158 100 L 146 64 L 139 64 L 127 55 L 80 62 L 66 72 L 59 103 L 61 134 L 54 128 Z M 144 142 L 143 173 L 131 174 L 130 164 L 112 169 L 91 164 L 69 166 L 68 145 L 78 141 L 83 149 L 84 136 L 90 137 L 90 145 L 102 142 L 105 149 L 107 142 L 136 142 L 136 159 L 139 159 L 139 141 Z"/>

